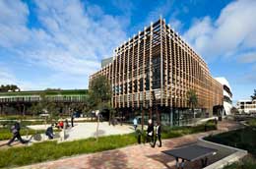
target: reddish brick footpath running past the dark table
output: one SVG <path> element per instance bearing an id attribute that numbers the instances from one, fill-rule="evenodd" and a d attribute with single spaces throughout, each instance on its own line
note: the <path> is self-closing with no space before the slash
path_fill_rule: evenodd
<path id="1" fill-rule="evenodd" d="M 181 138 L 162 141 L 162 147 L 152 148 L 148 143 L 127 146 L 119 149 L 103 152 L 83 154 L 73 157 L 66 157 L 56 161 L 33 164 L 20 167 L 20 169 L 174 169 L 174 158 L 163 154 L 161 151 L 171 149 L 183 144 L 197 141 L 199 137 L 217 134 L 238 128 L 234 122 L 219 123 L 219 130 L 208 133 L 188 135 Z M 200 161 L 186 163 L 187 168 L 197 169 Z"/>

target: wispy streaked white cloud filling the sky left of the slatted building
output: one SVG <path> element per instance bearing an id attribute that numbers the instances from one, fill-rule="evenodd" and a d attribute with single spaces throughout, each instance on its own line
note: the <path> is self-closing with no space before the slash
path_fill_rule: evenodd
<path id="1" fill-rule="evenodd" d="M 86 87 L 100 59 L 112 56 L 112 49 L 126 39 L 119 19 L 79 0 L 34 3 L 41 28 L 27 27 L 30 11 L 26 3 L 0 1 L 0 48 L 64 79 L 83 77 Z"/>

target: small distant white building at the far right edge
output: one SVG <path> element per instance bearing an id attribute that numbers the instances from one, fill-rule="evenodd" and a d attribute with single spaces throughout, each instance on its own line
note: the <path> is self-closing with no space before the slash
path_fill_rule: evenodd
<path id="1" fill-rule="evenodd" d="M 238 100 L 236 107 L 239 113 L 256 113 L 256 99 Z"/>

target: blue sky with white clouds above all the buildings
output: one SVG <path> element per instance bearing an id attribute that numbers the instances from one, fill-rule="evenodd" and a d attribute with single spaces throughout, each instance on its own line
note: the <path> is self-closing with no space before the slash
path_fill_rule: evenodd
<path id="1" fill-rule="evenodd" d="M 256 88 L 255 0 L 0 0 L 0 9 L 0 84 L 87 88 L 102 58 L 161 15 L 234 100 Z"/>

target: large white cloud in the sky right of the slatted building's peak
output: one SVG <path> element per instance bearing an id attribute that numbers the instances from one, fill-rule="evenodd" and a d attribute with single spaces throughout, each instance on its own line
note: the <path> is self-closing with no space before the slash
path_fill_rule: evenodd
<path id="1" fill-rule="evenodd" d="M 256 49 L 256 1 L 238 0 L 228 4 L 220 17 L 197 20 L 184 37 L 205 58 L 230 56 Z"/>

